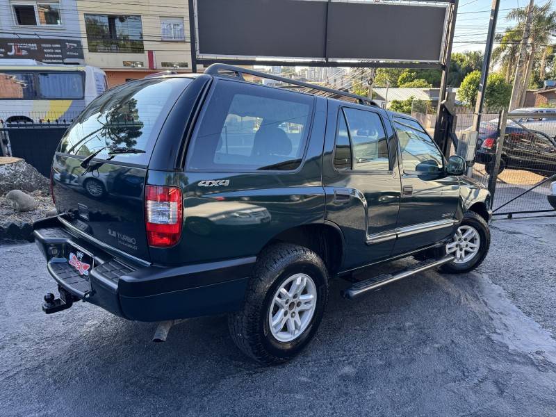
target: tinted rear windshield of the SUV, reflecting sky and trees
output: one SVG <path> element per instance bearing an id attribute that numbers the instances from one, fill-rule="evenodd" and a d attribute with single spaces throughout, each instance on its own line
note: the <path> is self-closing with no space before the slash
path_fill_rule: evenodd
<path id="1" fill-rule="evenodd" d="M 109 156 L 104 149 L 95 158 L 148 165 L 167 113 L 190 82 L 147 79 L 108 90 L 85 108 L 65 133 L 58 152 L 85 157 L 108 145 L 131 147 L 145 153 Z"/>

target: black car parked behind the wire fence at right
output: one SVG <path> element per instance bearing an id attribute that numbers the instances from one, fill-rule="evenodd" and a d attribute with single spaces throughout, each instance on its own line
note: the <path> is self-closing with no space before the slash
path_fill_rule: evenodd
<path id="1" fill-rule="evenodd" d="M 504 148 L 500 157 L 499 173 L 506 168 L 526 170 L 550 177 L 556 174 L 556 141 L 546 133 L 530 131 L 516 126 L 507 126 Z M 480 132 L 480 146 L 476 159 L 492 174 L 496 155 L 498 130 L 485 124 Z"/>

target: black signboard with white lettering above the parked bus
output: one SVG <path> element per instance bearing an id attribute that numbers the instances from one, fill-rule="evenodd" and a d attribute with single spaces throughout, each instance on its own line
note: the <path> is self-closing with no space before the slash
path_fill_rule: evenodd
<path id="1" fill-rule="evenodd" d="M 62 64 L 67 58 L 83 59 L 83 45 L 72 39 L 0 38 L 1 58 Z"/>

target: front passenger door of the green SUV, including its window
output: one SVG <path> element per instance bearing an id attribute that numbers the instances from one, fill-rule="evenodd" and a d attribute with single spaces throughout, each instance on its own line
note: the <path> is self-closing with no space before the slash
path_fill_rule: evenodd
<path id="1" fill-rule="evenodd" d="M 402 161 L 402 200 L 393 254 L 402 254 L 452 234 L 459 178 L 445 174 L 443 155 L 418 122 L 395 116 L 393 125 Z"/>

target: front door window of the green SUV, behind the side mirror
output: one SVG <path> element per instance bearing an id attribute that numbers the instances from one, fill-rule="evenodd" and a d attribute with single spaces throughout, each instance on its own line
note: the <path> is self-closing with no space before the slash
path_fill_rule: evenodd
<path id="1" fill-rule="evenodd" d="M 443 169 L 442 154 L 420 124 L 395 117 L 394 127 L 402 149 L 404 172 L 440 172 Z"/>

